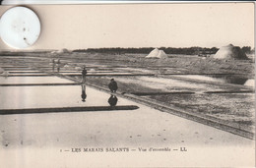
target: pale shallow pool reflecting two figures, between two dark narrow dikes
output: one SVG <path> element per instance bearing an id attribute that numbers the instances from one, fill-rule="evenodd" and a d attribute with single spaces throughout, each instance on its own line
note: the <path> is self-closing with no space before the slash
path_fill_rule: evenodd
<path id="1" fill-rule="evenodd" d="M 0 109 L 109 106 L 110 93 L 86 86 L 86 101 L 82 101 L 82 86 L 5 86 L 0 87 Z M 116 105 L 132 105 L 119 98 Z"/>

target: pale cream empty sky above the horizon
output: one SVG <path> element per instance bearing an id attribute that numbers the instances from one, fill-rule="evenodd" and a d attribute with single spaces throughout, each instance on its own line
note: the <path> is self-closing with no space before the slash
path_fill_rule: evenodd
<path id="1" fill-rule="evenodd" d="M 0 6 L 2 15 L 11 6 Z M 29 5 L 41 32 L 28 49 L 254 46 L 253 3 Z M 12 49 L 0 41 L 0 49 Z"/>

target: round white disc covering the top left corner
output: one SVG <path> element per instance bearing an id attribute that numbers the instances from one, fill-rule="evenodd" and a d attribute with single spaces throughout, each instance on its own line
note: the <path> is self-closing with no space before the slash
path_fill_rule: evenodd
<path id="1" fill-rule="evenodd" d="M 0 20 L 0 36 L 11 47 L 29 47 L 37 40 L 39 34 L 39 19 L 29 8 L 11 8 Z"/>

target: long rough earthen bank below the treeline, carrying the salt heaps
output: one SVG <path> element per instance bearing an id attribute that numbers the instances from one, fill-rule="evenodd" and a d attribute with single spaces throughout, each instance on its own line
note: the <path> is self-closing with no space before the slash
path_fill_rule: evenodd
<path id="1" fill-rule="evenodd" d="M 168 55 L 165 59 L 148 59 L 145 54 L 111 55 L 73 53 L 76 61 L 107 65 L 110 67 L 134 67 L 148 69 L 155 73 L 174 74 L 241 74 L 254 78 L 252 60 L 218 60 L 211 57 L 189 55 Z"/>

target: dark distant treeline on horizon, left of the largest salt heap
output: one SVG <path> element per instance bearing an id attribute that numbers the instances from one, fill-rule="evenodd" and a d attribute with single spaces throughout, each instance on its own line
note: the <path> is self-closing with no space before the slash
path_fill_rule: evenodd
<path id="1" fill-rule="evenodd" d="M 97 52 L 97 53 L 141 53 L 149 54 L 155 48 L 89 48 L 89 49 L 77 49 L 73 52 Z M 218 51 L 218 48 L 201 48 L 201 47 L 189 47 L 189 48 L 172 48 L 172 47 L 160 47 L 159 49 L 163 50 L 166 54 L 185 54 L 185 55 L 194 55 L 194 54 L 215 54 Z"/>

